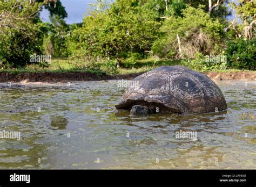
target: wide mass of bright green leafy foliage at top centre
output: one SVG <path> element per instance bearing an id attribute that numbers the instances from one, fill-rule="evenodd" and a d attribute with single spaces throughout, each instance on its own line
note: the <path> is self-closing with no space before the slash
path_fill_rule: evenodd
<path id="1" fill-rule="evenodd" d="M 116 59 L 120 65 L 131 51 L 149 51 L 160 26 L 152 15 L 152 11 L 128 0 L 110 4 L 106 12 L 91 12 L 84 18 L 83 27 L 74 30 L 68 41 L 72 57 Z"/>

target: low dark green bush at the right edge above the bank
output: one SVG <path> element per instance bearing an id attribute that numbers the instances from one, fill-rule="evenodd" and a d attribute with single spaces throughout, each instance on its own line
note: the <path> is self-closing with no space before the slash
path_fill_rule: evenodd
<path id="1" fill-rule="evenodd" d="M 227 66 L 235 69 L 256 69 L 256 39 L 230 41 L 225 50 Z"/>

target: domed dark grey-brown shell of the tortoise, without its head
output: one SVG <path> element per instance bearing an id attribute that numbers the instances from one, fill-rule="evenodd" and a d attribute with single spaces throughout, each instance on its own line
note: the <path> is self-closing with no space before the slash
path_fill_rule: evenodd
<path id="1" fill-rule="evenodd" d="M 162 66 L 134 78 L 116 109 L 139 103 L 163 105 L 175 113 L 205 113 L 227 109 L 219 87 L 206 75 L 183 66 Z"/>

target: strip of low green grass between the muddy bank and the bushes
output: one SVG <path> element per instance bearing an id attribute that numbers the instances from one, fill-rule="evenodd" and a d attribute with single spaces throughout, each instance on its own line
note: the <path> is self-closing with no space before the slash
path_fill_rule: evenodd
<path id="1" fill-rule="evenodd" d="M 101 65 L 104 62 L 100 62 Z M 100 65 L 98 63 L 98 65 Z M 86 68 L 85 62 L 81 61 L 70 61 L 69 59 L 53 59 L 52 63 L 49 64 L 48 67 L 40 67 L 38 64 L 30 64 L 23 69 L 0 69 L 1 72 L 6 72 L 9 74 L 20 74 L 20 73 L 76 73 L 76 72 L 89 72 L 100 75 L 126 75 L 126 74 L 139 74 L 149 71 L 151 69 L 157 68 L 159 66 L 173 66 L 177 64 L 181 64 L 180 60 L 166 60 L 161 59 L 156 61 L 156 59 L 144 59 L 139 60 L 134 64 L 128 64 L 128 66 L 132 66 L 130 68 L 119 68 L 116 71 L 111 72 L 109 68 L 104 66 L 97 66 L 96 68 Z M 91 63 L 92 65 L 93 63 Z M 127 64 L 125 64 L 127 65 Z M 242 71 L 241 69 L 212 69 L 211 72 L 215 73 L 236 73 Z M 248 72 L 255 72 L 252 70 L 244 70 Z"/>

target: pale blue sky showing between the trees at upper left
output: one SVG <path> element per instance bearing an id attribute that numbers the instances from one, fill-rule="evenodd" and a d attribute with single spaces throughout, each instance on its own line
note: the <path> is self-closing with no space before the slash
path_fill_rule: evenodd
<path id="1" fill-rule="evenodd" d="M 95 0 L 61 0 L 62 5 L 68 12 L 68 18 L 66 18 L 67 24 L 82 22 L 83 15 L 89 8 L 89 3 L 94 3 Z M 44 21 L 49 21 L 49 11 L 43 10 L 41 12 L 41 18 Z"/>

